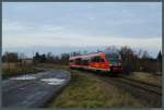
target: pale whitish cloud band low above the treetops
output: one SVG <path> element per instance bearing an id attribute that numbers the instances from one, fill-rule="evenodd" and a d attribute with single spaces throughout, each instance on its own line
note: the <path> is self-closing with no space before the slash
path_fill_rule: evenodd
<path id="1" fill-rule="evenodd" d="M 162 37 L 151 38 L 122 38 L 117 36 L 94 36 L 73 32 L 65 26 L 44 25 L 42 27 L 27 27 L 11 23 L 3 29 L 3 47 L 87 47 L 87 46 L 130 46 L 133 48 L 162 48 Z M 28 28 L 28 29 L 27 29 Z M 31 29 L 30 29 L 31 28 Z M 7 32 L 5 32 L 7 30 Z M 9 33 L 8 33 L 9 30 Z M 16 34 L 12 34 L 14 30 Z M 23 33 L 20 33 L 23 32 Z"/>

